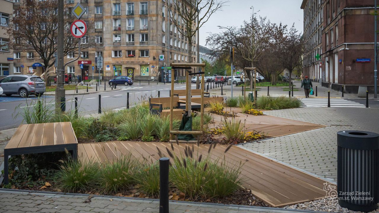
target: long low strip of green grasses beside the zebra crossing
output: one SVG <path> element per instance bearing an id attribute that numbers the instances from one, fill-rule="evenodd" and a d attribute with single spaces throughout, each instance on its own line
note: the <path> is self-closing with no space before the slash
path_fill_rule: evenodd
<path id="1" fill-rule="evenodd" d="M 264 110 L 282 110 L 300 107 L 301 102 L 297 98 L 280 97 L 259 97 L 256 107 Z"/>

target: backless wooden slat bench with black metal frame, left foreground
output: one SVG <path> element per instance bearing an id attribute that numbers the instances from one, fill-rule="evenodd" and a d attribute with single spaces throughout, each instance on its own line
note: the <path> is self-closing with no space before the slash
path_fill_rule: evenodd
<path id="1" fill-rule="evenodd" d="M 77 149 L 78 139 L 70 122 L 21 124 L 4 149 L 4 184 L 9 183 L 9 156 L 68 150 L 76 159 Z"/>

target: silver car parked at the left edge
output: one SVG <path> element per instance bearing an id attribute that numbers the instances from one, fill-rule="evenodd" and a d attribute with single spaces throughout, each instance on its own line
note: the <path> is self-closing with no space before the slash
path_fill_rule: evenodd
<path id="1" fill-rule="evenodd" d="M 0 86 L 6 96 L 19 94 L 23 98 L 30 94 L 41 96 L 46 91 L 45 82 L 36 75 L 8 75 L 0 80 Z"/>

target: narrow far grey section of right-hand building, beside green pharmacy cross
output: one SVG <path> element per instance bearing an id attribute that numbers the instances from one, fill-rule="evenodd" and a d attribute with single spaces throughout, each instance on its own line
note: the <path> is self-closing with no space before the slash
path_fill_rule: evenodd
<path id="1" fill-rule="evenodd" d="M 319 81 L 322 75 L 321 30 L 323 28 L 323 9 L 321 0 L 303 0 L 301 9 L 304 11 L 304 56 L 303 72 L 309 78 Z"/>

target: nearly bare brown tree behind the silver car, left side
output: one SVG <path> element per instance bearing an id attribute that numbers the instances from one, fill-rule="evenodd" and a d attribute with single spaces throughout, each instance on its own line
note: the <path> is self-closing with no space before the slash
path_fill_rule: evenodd
<path id="1" fill-rule="evenodd" d="M 70 14 L 71 11 L 66 12 L 64 38 L 67 39 L 63 47 L 64 55 L 77 51 L 79 41 L 79 38 L 74 38 L 70 34 L 69 28 L 75 19 Z M 91 23 L 87 24 L 90 28 Z M 48 67 L 54 66 L 55 62 L 56 39 L 58 38 L 58 1 L 23 1 L 22 5 L 15 11 L 7 34 L 11 38 L 10 48 L 14 52 L 36 52 L 44 63 L 42 72 L 45 72 Z M 92 41 L 94 39 L 84 38 L 81 49 L 93 45 Z"/>

